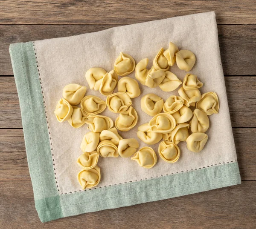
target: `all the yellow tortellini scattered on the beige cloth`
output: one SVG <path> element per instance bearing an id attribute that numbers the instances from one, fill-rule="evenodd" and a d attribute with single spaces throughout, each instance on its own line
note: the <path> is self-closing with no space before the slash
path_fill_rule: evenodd
<path id="1" fill-rule="evenodd" d="M 180 141 L 185 141 L 192 152 L 200 152 L 204 148 L 208 140 L 205 134 L 209 128 L 208 115 L 218 113 L 218 96 L 215 92 L 201 95 L 199 88 L 203 83 L 194 74 L 186 74 L 181 82 L 169 71 L 169 67 L 175 63 L 179 69 L 188 72 L 195 64 L 195 54 L 189 50 L 179 50 L 170 42 L 168 49 L 160 49 L 149 70 L 146 68 L 148 58 L 140 60 L 136 65 L 133 57 L 122 52 L 111 72 L 102 68 L 90 68 L 85 74 L 87 83 L 91 90 L 107 96 L 106 101 L 94 95 L 84 96 L 87 92 L 85 86 L 72 83 L 64 87 L 63 98 L 58 101 L 54 112 L 57 120 L 67 120 L 74 128 L 87 124 L 90 129 L 82 139 L 82 154 L 77 159 L 82 169 L 78 174 L 82 189 L 99 184 L 99 156 L 132 156 L 131 160 L 146 169 L 157 163 L 157 155 L 151 147 L 145 146 L 137 151 L 139 143 L 135 138 L 123 139 L 118 133 L 118 130 L 129 131 L 138 121 L 131 99 L 140 96 L 139 83 L 126 77 L 134 69 L 136 79 L 150 88 L 159 86 L 163 92 L 172 92 L 182 84 L 178 89 L 180 96 L 171 95 L 165 102 L 153 93 L 141 98 L 142 111 L 152 116 L 152 119 L 138 127 L 137 137 L 148 145 L 154 145 L 163 139 L 158 153 L 168 163 L 175 163 L 179 159 L 180 149 L 177 144 Z M 118 80 L 118 76 L 122 78 Z M 118 92 L 113 93 L 116 85 Z M 119 114 L 115 122 L 110 117 L 99 115 L 106 107 Z M 191 107 L 196 109 L 192 111 Z M 192 134 L 189 134 L 190 131 Z"/>

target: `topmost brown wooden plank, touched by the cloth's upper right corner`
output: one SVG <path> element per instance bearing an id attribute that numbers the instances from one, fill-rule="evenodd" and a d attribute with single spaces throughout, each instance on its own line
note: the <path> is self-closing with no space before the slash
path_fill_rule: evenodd
<path id="1" fill-rule="evenodd" d="M 0 24 L 130 24 L 207 11 L 219 24 L 256 21 L 255 0 L 4 0 L 1 8 Z"/>

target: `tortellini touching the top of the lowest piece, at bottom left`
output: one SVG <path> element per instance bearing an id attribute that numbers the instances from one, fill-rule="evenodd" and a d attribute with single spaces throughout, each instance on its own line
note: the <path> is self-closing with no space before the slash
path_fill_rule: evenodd
<path id="1" fill-rule="evenodd" d="M 77 163 L 84 170 L 90 170 L 96 166 L 99 160 L 99 153 L 96 151 L 85 152 L 77 158 Z"/>

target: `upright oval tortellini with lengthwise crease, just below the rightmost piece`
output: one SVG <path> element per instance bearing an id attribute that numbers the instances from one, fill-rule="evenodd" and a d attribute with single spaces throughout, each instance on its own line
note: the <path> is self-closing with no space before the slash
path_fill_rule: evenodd
<path id="1" fill-rule="evenodd" d="M 199 109 L 195 109 L 194 116 L 189 124 L 192 133 L 204 133 L 209 128 L 209 118 L 204 112 Z"/>

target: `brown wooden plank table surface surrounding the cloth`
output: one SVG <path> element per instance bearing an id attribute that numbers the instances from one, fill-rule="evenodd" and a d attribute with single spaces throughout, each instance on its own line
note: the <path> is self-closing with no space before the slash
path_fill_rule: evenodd
<path id="1" fill-rule="evenodd" d="M 9 44 L 213 10 L 242 184 L 41 223 Z M 256 228 L 255 0 L 2 0 L 0 76 L 0 228 Z"/>

